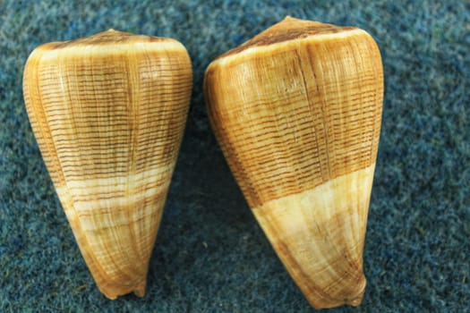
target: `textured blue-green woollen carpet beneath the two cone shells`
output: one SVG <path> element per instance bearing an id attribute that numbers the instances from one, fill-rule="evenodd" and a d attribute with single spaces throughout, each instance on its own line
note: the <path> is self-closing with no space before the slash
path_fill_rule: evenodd
<path id="1" fill-rule="evenodd" d="M 203 103 L 209 62 L 287 14 L 358 26 L 379 44 L 385 102 L 358 309 L 470 311 L 468 1 L 0 0 L 0 312 L 312 311 L 256 224 Z M 41 43 L 114 28 L 177 38 L 192 107 L 147 294 L 107 300 L 73 240 L 22 100 Z"/>

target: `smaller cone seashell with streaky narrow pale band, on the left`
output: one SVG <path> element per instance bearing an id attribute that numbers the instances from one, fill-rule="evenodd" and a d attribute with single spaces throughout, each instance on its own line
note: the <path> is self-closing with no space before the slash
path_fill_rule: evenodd
<path id="1" fill-rule="evenodd" d="M 81 254 L 109 299 L 145 293 L 192 89 L 184 46 L 107 30 L 36 48 L 30 124 Z"/>

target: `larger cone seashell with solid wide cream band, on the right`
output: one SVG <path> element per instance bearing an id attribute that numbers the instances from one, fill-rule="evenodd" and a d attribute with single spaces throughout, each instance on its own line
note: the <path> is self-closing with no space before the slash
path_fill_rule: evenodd
<path id="1" fill-rule="evenodd" d="M 358 306 L 383 97 L 372 37 L 287 17 L 210 63 L 204 91 L 227 163 L 306 299 Z"/>

